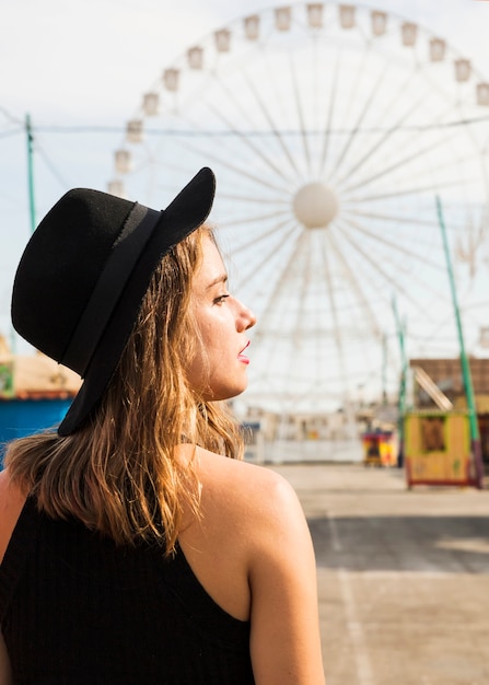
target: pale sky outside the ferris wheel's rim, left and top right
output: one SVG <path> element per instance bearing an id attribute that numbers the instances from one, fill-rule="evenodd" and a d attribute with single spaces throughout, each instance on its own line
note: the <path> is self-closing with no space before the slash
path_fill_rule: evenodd
<path id="1" fill-rule="evenodd" d="M 284 4 L 0 0 L 0 334 L 9 334 L 11 282 L 31 232 L 26 115 L 35 136 L 38 221 L 70 187 L 106 189 L 126 123 L 164 68 L 213 31 Z M 489 80 L 489 1 L 365 0 L 362 5 L 445 38 Z"/>

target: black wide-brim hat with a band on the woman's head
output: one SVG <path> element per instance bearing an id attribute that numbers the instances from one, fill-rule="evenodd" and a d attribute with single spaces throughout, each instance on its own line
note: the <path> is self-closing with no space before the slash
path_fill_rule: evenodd
<path id="1" fill-rule="evenodd" d="M 202 169 L 165 210 L 100 190 L 69 190 L 34 231 L 12 293 L 15 330 L 83 379 L 58 433 L 96 407 L 162 257 L 200 227 L 216 191 Z"/>

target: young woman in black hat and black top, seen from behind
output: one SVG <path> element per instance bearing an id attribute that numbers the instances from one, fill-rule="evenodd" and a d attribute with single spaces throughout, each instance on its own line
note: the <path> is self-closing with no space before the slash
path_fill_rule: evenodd
<path id="1" fill-rule="evenodd" d="M 24 252 L 14 325 L 83 385 L 0 474 L 0 685 L 324 683 L 303 512 L 220 402 L 255 317 L 213 193 L 208 169 L 161 212 L 72 190 Z"/>

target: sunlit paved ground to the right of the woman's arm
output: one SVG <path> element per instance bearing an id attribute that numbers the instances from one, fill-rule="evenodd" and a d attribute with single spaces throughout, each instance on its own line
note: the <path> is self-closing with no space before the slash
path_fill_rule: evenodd
<path id="1" fill-rule="evenodd" d="M 407 490 L 397 468 L 272 468 L 310 522 L 327 685 L 488 685 L 489 490 Z"/>

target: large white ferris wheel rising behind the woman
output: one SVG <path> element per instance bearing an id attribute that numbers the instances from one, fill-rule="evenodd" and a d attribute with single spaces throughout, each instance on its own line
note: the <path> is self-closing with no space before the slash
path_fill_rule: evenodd
<path id="1" fill-rule="evenodd" d="M 331 411 L 397 391 L 399 317 L 409 357 L 457 355 L 436 197 L 477 347 L 488 114 L 489 83 L 414 22 L 335 2 L 268 9 L 163 70 L 108 190 L 158 207 L 211 166 L 231 289 L 258 317 L 244 402 Z"/>

